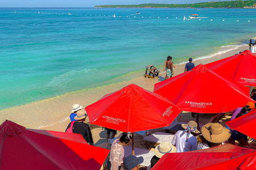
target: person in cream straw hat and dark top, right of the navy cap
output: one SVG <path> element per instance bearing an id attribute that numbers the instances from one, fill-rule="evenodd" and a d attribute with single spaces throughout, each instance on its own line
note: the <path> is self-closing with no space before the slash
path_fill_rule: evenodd
<path id="1" fill-rule="evenodd" d="M 162 142 L 159 145 L 156 146 L 154 152 L 155 155 L 151 158 L 151 168 L 158 162 L 160 158 L 166 153 L 173 153 L 176 152 L 177 148 L 171 145 L 169 142 Z M 151 169 L 150 168 L 150 169 Z"/>

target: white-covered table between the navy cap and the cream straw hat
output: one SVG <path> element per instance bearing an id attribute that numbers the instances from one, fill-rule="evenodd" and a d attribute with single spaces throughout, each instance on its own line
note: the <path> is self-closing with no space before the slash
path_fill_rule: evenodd
<path id="1" fill-rule="evenodd" d="M 132 147 L 126 147 L 124 146 L 124 156 L 130 156 L 132 155 Z M 149 151 L 146 149 L 140 149 L 140 148 L 134 148 L 134 155 L 137 157 L 143 157 L 144 161 L 142 166 L 149 166 L 151 158 L 155 155 L 153 151 Z"/>

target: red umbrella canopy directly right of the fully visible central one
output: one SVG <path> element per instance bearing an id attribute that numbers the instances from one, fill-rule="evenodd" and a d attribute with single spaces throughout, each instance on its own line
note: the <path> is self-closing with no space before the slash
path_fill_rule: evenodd
<path id="1" fill-rule="evenodd" d="M 250 89 L 199 64 L 194 69 L 155 84 L 154 92 L 183 111 L 223 113 L 244 106 Z"/>

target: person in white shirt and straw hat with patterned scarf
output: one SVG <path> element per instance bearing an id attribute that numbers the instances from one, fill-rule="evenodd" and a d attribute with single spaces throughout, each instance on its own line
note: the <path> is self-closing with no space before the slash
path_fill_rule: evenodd
<path id="1" fill-rule="evenodd" d="M 186 152 L 197 150 L 196 133 L 200 133 L 197 130 L 197 123 L 195 121 L 189 121 L 188 124 L 181 124 L 185 130 L 178 131 L 174 134 L 172 139 L 172 145 L 177 148 L 177 152 Z"/>

